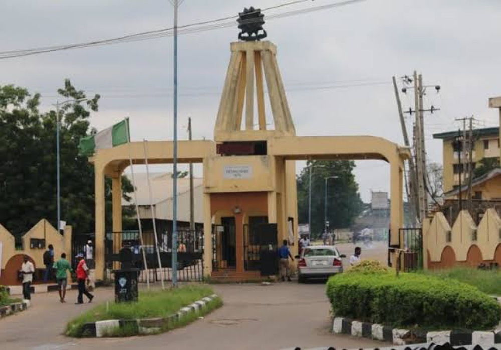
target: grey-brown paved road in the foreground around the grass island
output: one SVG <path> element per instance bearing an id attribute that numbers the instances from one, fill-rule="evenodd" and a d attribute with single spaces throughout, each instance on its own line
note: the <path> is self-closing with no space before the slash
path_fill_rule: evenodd
<path id="1" fill-rule="evenodd" d="M 205 319 L 161 335 L 119 339 L 73 339 L 61 335 L 67 320 L 92 304 L 61 304 L 57 295 L 36 294 L 28 311 L 0 320 L 0 344 L 9 349 L 284 349 L 363 348 L 381 342 L 333 335 L 323 283 L 214 285 L 224 306 Z M 75 292 L 69 293 L 69 299 Z M 96 301 L 112 297 L 96 291 Z"/>

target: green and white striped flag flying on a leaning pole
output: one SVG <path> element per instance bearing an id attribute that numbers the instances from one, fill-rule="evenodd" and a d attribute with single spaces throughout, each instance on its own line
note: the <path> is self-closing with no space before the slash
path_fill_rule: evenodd
<path id="1" fill-rule="evenodd" d="M 78 150 L 80 155 L 91 156 L 97 149 L 113 148 L 130 141 L 129 119 L 99 131 L 95 135 L 80 139 Z"/>

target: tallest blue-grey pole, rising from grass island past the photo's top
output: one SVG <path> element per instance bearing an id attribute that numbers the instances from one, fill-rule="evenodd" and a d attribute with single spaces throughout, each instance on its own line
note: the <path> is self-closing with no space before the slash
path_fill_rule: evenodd
<path id="1" fill-rule="evenodd" d="M 172 197 L 172 284 L 177 287 L 177 11 L 179 0 L 174 0 L 174 181 Z"/>

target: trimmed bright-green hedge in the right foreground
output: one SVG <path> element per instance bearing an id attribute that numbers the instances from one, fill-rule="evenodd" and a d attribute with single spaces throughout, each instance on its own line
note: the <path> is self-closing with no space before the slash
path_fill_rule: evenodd
<path id="1" fill-rule="evenodd" d="M 327 296 L 336 316 L 396 327 L 483 330 L 501 319 L 497 301 L 477 288 L 413 273 L 337 275 Z"/>

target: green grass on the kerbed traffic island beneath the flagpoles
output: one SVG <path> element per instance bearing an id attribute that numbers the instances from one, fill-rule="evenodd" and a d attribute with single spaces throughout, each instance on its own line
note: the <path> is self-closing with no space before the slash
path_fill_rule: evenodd
<path id="1" fill-rule="evenodd" d="M 71 320 L 65 330 L 65 334 L 69 336 L 80 337 L 82 334 L 82 326 L 85 323 L 96 322 L 108 319 L 139 319 L 139 318 L 155 318 L 167 317 L 178 312 L 182 307 L 187 306 L 206 296 L 212 295 L 214 292 L 210 287 L 203 285 L 189 285 L 177 289 L 158 290 L 158 291 L 140 291 L 139 301 L 133 303 L 118 303 L 110 302 L 108 310 L 106 303 L 100 304 L 89 311 L 82 313 L 80 316 Z M 213 308 L 221 306 L 222 302 L 209 303 L 205 309 L 210 311 Z M 200 314 L 201 315 L 201 314 Z M 186 317 L 185 317 L 186 318 Z M 198 318 L 198 314 L 192 320 Z M 186 321 L 191 319 L 181 319 L 179 324 L 174 326 L 184 325 Z M 169 330 L 169 329 L 165 329 Z M 130 332 L 127 332 L 130 333 Z M 135 335 L 135 334 L 110 334 L 115 336 Z"/>

